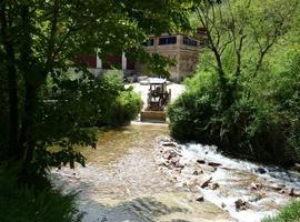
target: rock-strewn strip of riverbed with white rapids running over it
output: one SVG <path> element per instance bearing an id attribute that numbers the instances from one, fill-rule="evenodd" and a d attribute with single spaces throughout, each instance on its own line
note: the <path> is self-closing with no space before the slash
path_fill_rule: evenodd
<path id="1" fill-rule="evenodd" d="M 217 148 L 156 139 L 156 162 L 164 176 L 198 202 L 210 201 L 240 222 L 259 222 L 300 195 L 300 175 L 277 167 L 229 159 Z"/>

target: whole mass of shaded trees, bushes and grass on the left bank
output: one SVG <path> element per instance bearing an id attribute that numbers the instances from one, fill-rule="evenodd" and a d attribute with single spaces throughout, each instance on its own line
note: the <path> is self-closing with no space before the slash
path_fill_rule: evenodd
<path id="1" fill-rule="evenodd" d="M 73 148 L 96 147 L 90 127 L 124 124 L 141 108 L 139 95 L 126 90 L 120 78 L 94 78 L 76 58 L 124 52 L 168 74 L 170 61 L 147 53 L 141 43 L 149 34 L 190 29 L 191 3 L 0 2 L 0 164 L 10 161 L 20 169 L 1 178 L 0 221 L 71 221 L 72 198 L 60 196 L 47 182 L 46 190 L 38 189 L 40 179 L 53 167 L 84 165 L 84 157 Z M 50 147 L 60 149 L 51 152 Z M 13 181 L 6 180 L 10 176 Z"/>

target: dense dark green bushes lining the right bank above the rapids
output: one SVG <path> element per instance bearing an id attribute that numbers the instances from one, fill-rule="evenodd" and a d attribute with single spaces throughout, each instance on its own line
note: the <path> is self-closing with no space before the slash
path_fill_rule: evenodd
<path id="1" fill-rule="evenodd" d="M 260 162 L 290 165 L 300 161 L 300 81 L 294 81 L 299 71 L 291 69 L 277 77 L 284 81 L 269 80 L 277 90 L 256 83 L 250 97 L 239 92 L 227 109 L 221 105 L 216 75 L 199 72 L 186 81 L 188 90 L 168 108 L 171 134 Z"/>

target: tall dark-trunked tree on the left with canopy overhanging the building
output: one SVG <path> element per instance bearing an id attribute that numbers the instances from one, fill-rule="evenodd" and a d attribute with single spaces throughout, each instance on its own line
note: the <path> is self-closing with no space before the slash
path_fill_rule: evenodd
<path id="1" fill-rule="evenodd" d="M 27 169 L 42 142 L 34 125 L 38 97 L 48 77 L 70 67 L 84 70 L 73 59 L 96 51 L 104 56 L 133 50 L 138 60 L 151 67 L 158 62 L 160 68 L 164 59 L 147 54 L 140 43 L 150 33 L 188 29 L 191 7 L 190 0 L 1 1 L 0 65 L 8 77 L 10 113 L 7 158 L 23 160 Z M 67 155 L 77 153 L 70 149 Z"/>

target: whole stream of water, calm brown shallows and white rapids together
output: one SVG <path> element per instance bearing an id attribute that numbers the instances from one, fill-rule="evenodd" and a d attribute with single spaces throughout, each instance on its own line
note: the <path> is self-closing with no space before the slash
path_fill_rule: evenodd
<path id="1" fill-rule="evenodd" d="M 169 135 L 167 124 L 131 124 L 99 132 L 96 150 L 80 149 L 86 168 L 52 170 L 50 178 L 64 193 L 78 193 L 84 222 L 256 222 L 291 200 L 273 186 L 300 189 L 297 173 L 229 159 L 214 148 L 193 143 L 179 145 L 186 168 L 167 172 L 156 160 L 156 138 L 161 135 Z M 199 159 L 222 164 L 210 172 L 219 189 L 184 185 L 197 176 L 191 172 Z M 249 189 L 253 182 L 263 189 Z M 203 202 L 196 201 L 200 192 Z M 251 208 L 237 211 L 238 199 Z"/>

